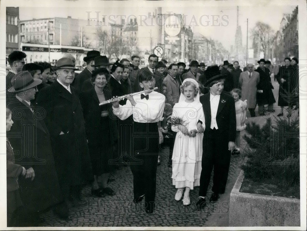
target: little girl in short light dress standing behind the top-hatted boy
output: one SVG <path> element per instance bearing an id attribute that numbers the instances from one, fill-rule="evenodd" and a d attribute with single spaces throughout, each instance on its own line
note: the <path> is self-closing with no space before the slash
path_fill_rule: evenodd
<path id="1" fill-rule="evenodd" d="M 235 143 L 237 148 L 231 154 L 240 154 L 240 131 L 243 131 L 246 128 L 245 119 L 246 119 L 246 107 L 247 100 L 241 100 L 241 90 L 232 89 L 231 96 L 235 100 L 235 117 L 237 122 L 237 132 L 235 136 Z"/>

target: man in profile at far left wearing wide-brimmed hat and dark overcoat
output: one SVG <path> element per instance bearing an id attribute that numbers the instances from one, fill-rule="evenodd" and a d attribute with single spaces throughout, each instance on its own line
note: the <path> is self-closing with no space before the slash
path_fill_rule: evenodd
<path id="1" fill-rule="evenodd" d="M 27 169 L 25 177 L 18 179 L 23 203 L 17 215 L 20 226 L 38 225 L 39 212 L 62 201 L 50 135 L 43 120 L 45 110 L 30 103 L 41 82 L 28 71 L 21 71 L 13 77 L 8 90 L 15 99 L 7 105 L 14 121 L 7 137 L 14 149 L 15 164 Z"/>

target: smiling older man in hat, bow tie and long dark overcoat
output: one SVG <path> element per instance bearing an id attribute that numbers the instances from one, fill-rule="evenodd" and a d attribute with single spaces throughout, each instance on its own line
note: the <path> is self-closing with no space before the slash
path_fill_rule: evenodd
<path id="1" fill-rule="evenodd" d="M 69 58 L 56 66 L 56 81 L 38 93 L 37 104 L 45 109 L 45 123 L 64 198 L 62 218 L 68 218 L 68 199 L 80 203 L 81 184 L 94 180 L 78 91 L 71 86 L 77 70 Z"/>

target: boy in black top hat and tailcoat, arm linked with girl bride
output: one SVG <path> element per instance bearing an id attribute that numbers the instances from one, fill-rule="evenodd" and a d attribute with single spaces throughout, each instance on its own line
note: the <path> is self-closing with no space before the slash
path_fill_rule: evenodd
<path id="1" fill-rule="evenodd" d="M 225 192 L 231 152 L 235 149 L 235 100 L 223 92 L 225 76 L 220 74 L 218 66 L 208 67 L 206 75 L 210 77 L 206 86 L 210 93 L 200 97 L 205 115 L 205 131 L 201 123 L 198 132 L 204 132 L 202 170 L 200 174 L 199 199 L 196 206 L 206 205 L 205 196 L 210 182 L 212 168 L 213 187 L 210 203 L 218 200 Z"/>

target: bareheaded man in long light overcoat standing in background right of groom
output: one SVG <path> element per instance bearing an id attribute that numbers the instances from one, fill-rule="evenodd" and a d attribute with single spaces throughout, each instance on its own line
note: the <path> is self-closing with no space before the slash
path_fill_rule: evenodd
<path id="1" fill-rule="evenodd" d="M 242 89 L 241 100 L 247 100 L 247 108 L 251 117 L 255 117 L 257 85 L 260 81 L 259 73 L 253 71 L 254 65 L 248 64 L 247 71 L 240 74 L 239 84 Z"/>

